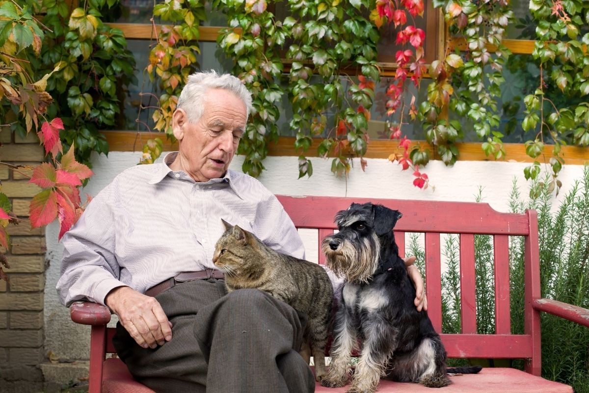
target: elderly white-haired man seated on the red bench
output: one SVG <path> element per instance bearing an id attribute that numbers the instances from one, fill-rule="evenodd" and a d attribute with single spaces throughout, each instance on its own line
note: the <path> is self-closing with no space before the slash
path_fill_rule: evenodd
<path id="1" fill-rule="evenodd" d="M 64 236 L 62 303 L 90 299 L 116 313 L 119 356 L 158 392 L 314 391 L 297 353 L 305 316 L 258 290 L 227 295 L 213 270 L 221 219 L 304 257 L 276 197 L 228 169 L 251 106 L 239 79 L 191 75 L 173 114 L 179 151 L 123 171 Z M 408 272 L 421 309 L 421 276 Z"/>

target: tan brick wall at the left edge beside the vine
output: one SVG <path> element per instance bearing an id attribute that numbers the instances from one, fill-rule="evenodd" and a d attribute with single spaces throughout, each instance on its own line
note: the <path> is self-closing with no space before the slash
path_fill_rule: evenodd
<path id="1" fill-rule="evenodd" d="M 25 139 L 0 131 L 0 160 L 37 164 L 44 151 L 34 134 Z M 21 173 L 0 166 L 1 190 L 19 218 L 28 217 L 29 201 L 39 188 Z M 44 361 L 43 291 L 45 287 L 45 230 L 28 222 L 9 225 L 12 246 L 6 253 L 9 282 L 0 281 L 0 391 L 39 392 Z"/>

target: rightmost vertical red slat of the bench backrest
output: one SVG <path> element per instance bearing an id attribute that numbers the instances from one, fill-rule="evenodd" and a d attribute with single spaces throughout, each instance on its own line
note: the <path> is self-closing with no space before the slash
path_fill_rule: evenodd
<path id="1" fill-rule="evenodd" d="M 509 310 L 509 237 L 495 235 L 495 333 L 511 332 L 511 311 Z"/>

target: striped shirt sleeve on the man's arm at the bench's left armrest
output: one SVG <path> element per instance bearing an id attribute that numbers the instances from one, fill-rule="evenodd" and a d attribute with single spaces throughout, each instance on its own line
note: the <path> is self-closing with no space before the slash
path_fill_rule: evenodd
<path id="1" fill-rule="evenodd" d="M 125 284 L 119 279 L 115 257 L 115 219 L 112 184 L 88 204 L 78 222 L 62 238 L 64 256 L 57 292 L 62 304 L 91 300 L 104 305 L 112 289 Z"/>

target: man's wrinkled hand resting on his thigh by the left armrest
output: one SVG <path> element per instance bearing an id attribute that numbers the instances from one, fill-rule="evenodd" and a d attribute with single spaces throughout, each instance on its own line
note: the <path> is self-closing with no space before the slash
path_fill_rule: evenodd
<path id="1" fill-rule="evenodd" d="M 154 349 L 172 339 L 172 323 L 155 298 L 120 286 L 108 292 L 104 302 L 143 348 Z"/>

